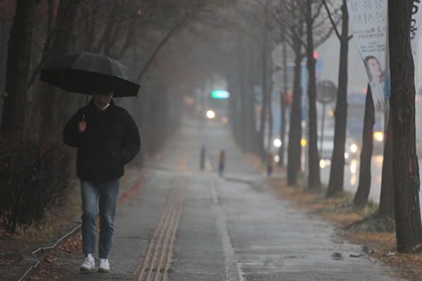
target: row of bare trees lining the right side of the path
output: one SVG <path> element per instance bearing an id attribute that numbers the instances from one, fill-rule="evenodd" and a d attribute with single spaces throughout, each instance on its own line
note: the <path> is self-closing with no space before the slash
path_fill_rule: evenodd
<path id="1" fill-rule="evenodd" d="M 295 185 L 300 173 L 300 138 L 301 100 L 300 64 L 307 63 L 307 101 L 308 112 L 307 134 L 309 136 L 307 184 L 309 189 L 321 188 L 319 171 L 319 155 L 316 147 L 316 77 L 314 49 L 320 46 L 331 34 L 340 41 L 338 95 L 335 105 L 335 136 L 330 181 L 327 197 L 340 195 L 344 185 L 345 139 L 347 124 L 347 54 L 350 44 L 346 0 L 306 0 L 306 1 L 248 1 L 250 6 L 242 6 L 242 11 L 231 14 L 238 22 L 236 40 L 227 40 L 222 53 L 231 53 L 230 63 L 221 61 L 229 91 L 238 93 L 231 100 L 234 136 L 237 143 L 245 151 L 255 152 L 264 158 L 264 116 L 271 108 L 271 51 L 281 44 L 293 50 L 290 61 L 295 63 L 293 79 L 293 103 L 290 113 L 290 129 L 288 131 L 288 183 Z M 421 212 L 418 201 L 419 171 L 416 157 L 414 67 L 410 51 L 410 19 L 412 1 L 388 1 L 389 37 L 390 37 L 390 70 L 391 98 L 390 112 L 386 112 L 390 122 L 386 124 L 386 141 L 383 160 L 383 181 L 378 212 L 368 221 L 394 220 L 397 234 L 398 251 L 414 251 L 421 244 Z M 397 22 L 396 22 L 397 21 Z M 231 37 L 233 39 L 233 37 Z M 398 44 L 398 42 L 400 42 Z M 245 46 L 248 46 L 246 48 Z M 394 57 L 394 59 L 393 59 Z M 283 59 L 286 62 L 286 58 Z M 399 63 L 399 62 L 402 63 Z M 406 63 L 403 63 L 406 62 Z M 397 65 L 396 65 L 397 63 Z M 287 67 L 285 67 L 286 69 Z M 254 85 L 261 85 L 262 111 L 261 124 L 255 133 L 255 119 L 250 112 L 255 112 Z M 281 100 L 281 103 L 283 100 Z M 281 108 L 284 108 L 282 105 Z M 256 112 L 255 112 L 256 114 Z M 284 118 L 282 112 L 282 122 Z M 270 116 L 270 114 L 268 114 Z M 359 186 L 354 197 L 354 205 L 362 207 L 368 202 L 371 188 L 371 155 L 373 101 L 370 89 L 366 100 L 364 125 L 364 148 L 361 154 Z M 282 123 L 283 124 L 283 123 Z M 281 138 L 284 139 L 284 125 Z M 405 133 L 407 132 L 407 133 Z M 245 137 L 247 136 L 247 137 Z M 283 143 L 285 143 L 283 141 Z M 394 149 L 393 149 L 394 148 Z M 281 148 L 280 155 L 283 155 Z M 282 159 L 282 158 L 281 158 Z M 283 162 L 281 163 L 283 164 Z"/>

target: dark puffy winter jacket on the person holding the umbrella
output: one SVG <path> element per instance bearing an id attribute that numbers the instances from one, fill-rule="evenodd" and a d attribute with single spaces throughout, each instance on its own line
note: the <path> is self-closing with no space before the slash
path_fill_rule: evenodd
<path id="1" fill-rule="evenodd" d="M 82 118 L 87 129 L 79 133 Z M 110 101 L 106 111 L 94 100 L 79 109 L 63 130 L 64 142 L 77 148 L 77 176 L 84 181 L 112 181 L 124 174 L 124 165 L 140 150 L 138 127 L 129 112 Z"/>

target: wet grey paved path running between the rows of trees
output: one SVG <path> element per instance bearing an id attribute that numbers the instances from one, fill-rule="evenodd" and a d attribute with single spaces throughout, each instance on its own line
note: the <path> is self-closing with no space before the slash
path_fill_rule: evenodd
<path id="1" fill-rule="evenodd" d="M 221 150 L 224 177 L 215 171 Z M 68 259 L 65 280 L 399 280 L 260 184 L 222 126 L 185 122 L 146 178 L 117 211 L 112 272 L 82 274 Z"/>

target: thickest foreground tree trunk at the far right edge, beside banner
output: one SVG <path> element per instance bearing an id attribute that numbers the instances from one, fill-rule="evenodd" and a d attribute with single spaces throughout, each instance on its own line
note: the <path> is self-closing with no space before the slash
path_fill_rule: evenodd
<path id="1" fill-rule="evenodd" d="M 419 166 L 416 156 L 414 60 L 410 20 L 414 1 L 388 1 L 393 182 L 397 251 L 422 244 Z"/>

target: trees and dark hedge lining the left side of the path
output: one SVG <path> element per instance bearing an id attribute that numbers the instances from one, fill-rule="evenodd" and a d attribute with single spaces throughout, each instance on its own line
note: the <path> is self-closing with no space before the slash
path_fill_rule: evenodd
<path id="1" fill-rule="evenodd" d="M 60 183 L 68 183 L 69 169 L 74 166 L 61 133 L 70 115 L 87 98 L 39 82 L 41 68 L 56 56 L 94 50 L 127 65 L 142 87 L 138 98 L 116 102 L 132 112 L 139 126 L 144 153 L 136 162 L 142 164 L 143 157 L 160 150 L 179 124 L 183 107 L 178 93 L 182 90 L 174 91 L 172 85 L 181 78 L 174 75 L 174 69 L 186 66 L 179 57 L 181 50 L 192 45 L 192 34 L 207 24 L 201 22 L 200 15 L 214 15 L 224 3 L 0 1 L 0 86 L 4 89 L 0 110 L 0 174 L 4 175 L 0 180 L 0 217 L 8 231 L 29 227 L 39 222 L 44 210 L 63 205 L 60 202 L 67 189 L 53 179 L 60 175 Z M 58 169 L 51 169 L 51 165 Z M 34 197 L 34 190 L 45 200 Z M 39 204 L 27 204 L 24 198 Z"/>

